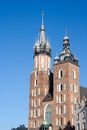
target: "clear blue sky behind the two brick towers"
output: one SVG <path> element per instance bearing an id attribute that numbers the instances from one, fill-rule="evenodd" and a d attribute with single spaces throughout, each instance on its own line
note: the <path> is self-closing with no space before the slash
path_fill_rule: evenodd
<path id="1" fill-rule="evenodd" d="M 65 28 L 87 87 L 87 0 L 0 0 L 0 129 L 27 125 L 33 45 L 44 10 L 52 64 L 62 50 Z"/>

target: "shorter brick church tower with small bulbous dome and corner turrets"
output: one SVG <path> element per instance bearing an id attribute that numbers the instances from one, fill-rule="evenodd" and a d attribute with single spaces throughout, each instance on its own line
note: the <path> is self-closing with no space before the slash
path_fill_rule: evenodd
<path id="1" fill-rule="evenodd" d="M 74 124 L 74 108 L 80 100 L 78 59 L 70 50 L 69 37 L 63 39 L 63 50 L 54 59 L 54 129 L 68 121 Z"/>

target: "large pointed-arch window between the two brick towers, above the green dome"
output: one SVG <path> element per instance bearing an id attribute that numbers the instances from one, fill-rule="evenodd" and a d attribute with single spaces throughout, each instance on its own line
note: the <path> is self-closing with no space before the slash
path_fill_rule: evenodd
<path id="1" fill-rule="evenodd" d="M 48 123 L 52 123 L 52 106 L 50 104 L 48 104 L 45 109 L 45 120 L 47 120 Z"/>

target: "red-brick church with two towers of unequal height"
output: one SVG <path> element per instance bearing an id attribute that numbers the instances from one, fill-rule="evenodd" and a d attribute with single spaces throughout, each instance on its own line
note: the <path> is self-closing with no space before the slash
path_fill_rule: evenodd
<path id="1" fill-rule="evenodd" d="M 68 121 L 74 124 L 75 104 L 80 100 L 78 59 L 70 49 L 69 37 L 63 38 L 63 49 L 54 58 L 51 71 L 51 45 L 45 36 L 44 14 L 40 37 L 34 45 L 34 70 L 30 74 L 29 130 L 49 127 L 58 130 Z"/>

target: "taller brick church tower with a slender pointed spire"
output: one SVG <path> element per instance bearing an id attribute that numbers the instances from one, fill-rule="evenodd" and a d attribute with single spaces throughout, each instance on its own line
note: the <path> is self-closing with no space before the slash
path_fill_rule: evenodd
<path id="1" fill-rule="evenodd" d="M 30 76 L 29 130 L 39 129 L 45 120 L 45 101 L 52 100 L 51 46 L 45 36 L 44 14 L 40 37 L 34 45 L 34 71 Z M 52 86 L 52 85 L 51 85 Z M 48 96 L 47 96 L 48 95 Z M 49 106 L 50 107 L 50 106 Z"/>

